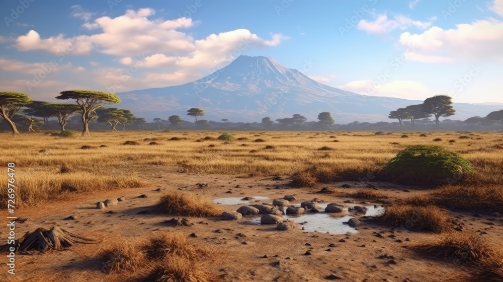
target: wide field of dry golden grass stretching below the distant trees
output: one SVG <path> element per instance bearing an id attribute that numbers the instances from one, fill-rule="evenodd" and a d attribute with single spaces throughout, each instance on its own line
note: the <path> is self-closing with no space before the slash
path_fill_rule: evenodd
<path id="1" fill-rule="evenodd" d="M 473 139 L 459 139 L 457 137 L 462 134 L 449 133 L 457 138 L 456 143 L 433 142 L 435 137 L 445 136 L 446 132 L 428 133 L 428 138 L 410 132 L 408 138 L 400 137 L 405 132 L 378 135 L 369 131 L 350 134 L 339 131 L 228 133 L 239 141 L 224 144 L 216 140 L 221 134 L 216 131 L 93 131 L 90 136 L 69 138 L 43 133 L 20 136 L 0 133 L 4 141 L 0 144 L 3 153 L 0 166 L 16 163 L 18 188 L 24 190 L 21 200 L 28 204 L 57 198 L 58 193 L 66 195 L 68 189 L 65 187 L 70 190 L 77 187 L 77 191 L 71 193 L 137 187 L 144 182 L 141 171 L 156 165 L 176 167 L 180 172 L 239 177 L 298 173 L 298 186 L 306 187 L 341 179 L 357 181 L 369 174 L 378 176 L 384 164 L 397 152 L 420 144 L 441 145 L 467 158 L 476 173 L 467 177 L 466 183 L 495 185 L 499 190 L 497 185 L 503 183 L 500 173 L 503 171 L 503 136 L 500 133 L 476 133 Z M 254 142 L 255 135 L 260 135 L 265 142 Z M 334 136 L 338 143 L 332 142 Z M 480 137 L 483 139 L 477 139 Z M 150 146 L 152 140 L 158 145 Z M 139 145 L 122 145 L 126 141 Z M 396 143 L 399 144 L 393 145 Z M 81 150 L 82 146 L 91 149 Z M 265 149 L 267 146 L 274 149 Z M 318 150 L 323 147 L 331 150 Z M 71 171 L 59 173 L 62 166 Z M 138 173 L 124 173 L 131 171 Z M 72 176 L 66 178 L 65 175 Z M 64 184 L 70 178 L 73 179 L 71 185 Z M 453 180 L 456 182 L 454 176 Z M 5 190 L 0 192 L 6 194 Z"/>

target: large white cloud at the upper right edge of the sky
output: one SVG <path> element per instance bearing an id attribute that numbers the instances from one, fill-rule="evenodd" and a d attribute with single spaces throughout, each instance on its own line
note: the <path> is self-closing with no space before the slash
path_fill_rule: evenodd
<path id="1" fill-rule="evenodd" d="M 447 30 L 432 27 L 422 34 L 405 32 L 399 42 L 416 48 L 410 59 L 417 61 L 503 61 L 503 22 L 489 19 Z"/>

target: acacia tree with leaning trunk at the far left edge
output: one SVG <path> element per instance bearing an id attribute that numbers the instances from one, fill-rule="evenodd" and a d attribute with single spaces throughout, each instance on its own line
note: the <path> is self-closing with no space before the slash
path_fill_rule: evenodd
<path id="1" fill-rule="evenodd" d="M 0 116 L 3 117 L 12 128 L 12 134 L 17 135 L 19 131 L 12 118 L 23 106 L 31 101 L 28 94 L 16 91 L 0 91 Z"/>

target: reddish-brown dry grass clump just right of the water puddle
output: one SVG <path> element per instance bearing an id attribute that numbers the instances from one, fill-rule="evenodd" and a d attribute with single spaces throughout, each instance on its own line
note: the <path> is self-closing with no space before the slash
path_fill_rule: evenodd
<path id="1" fill-rule="evenodd" d="M 452 229 L 449 214 L 435 205 L 391 204 L 385 207 L 384 214 L 378 217 L 378 221 L 394 227 L 436 233 Z"/>

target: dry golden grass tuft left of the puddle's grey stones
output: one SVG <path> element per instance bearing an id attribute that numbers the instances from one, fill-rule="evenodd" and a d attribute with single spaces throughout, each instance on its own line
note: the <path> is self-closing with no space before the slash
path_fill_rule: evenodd
<path id="1" fill-rule="evenodd" d="M 207 196 L 193 192 L 169 191 L 157 203 L 162 212 L 190 217 L 216 217 L 222 210 Z"/>

